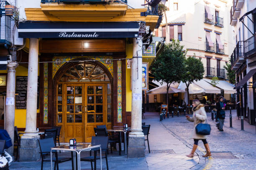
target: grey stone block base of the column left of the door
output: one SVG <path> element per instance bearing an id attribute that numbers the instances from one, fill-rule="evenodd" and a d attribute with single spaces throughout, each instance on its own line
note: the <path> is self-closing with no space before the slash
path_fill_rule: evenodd
<path id="1" fill-rule="evenodd" d="M 29 138 L 26 138 L 29 137 Z M 19 161 L 38 161 L 40 159 L 39 136 L 26 136 L 20 139 L 20 158 Z"/>

